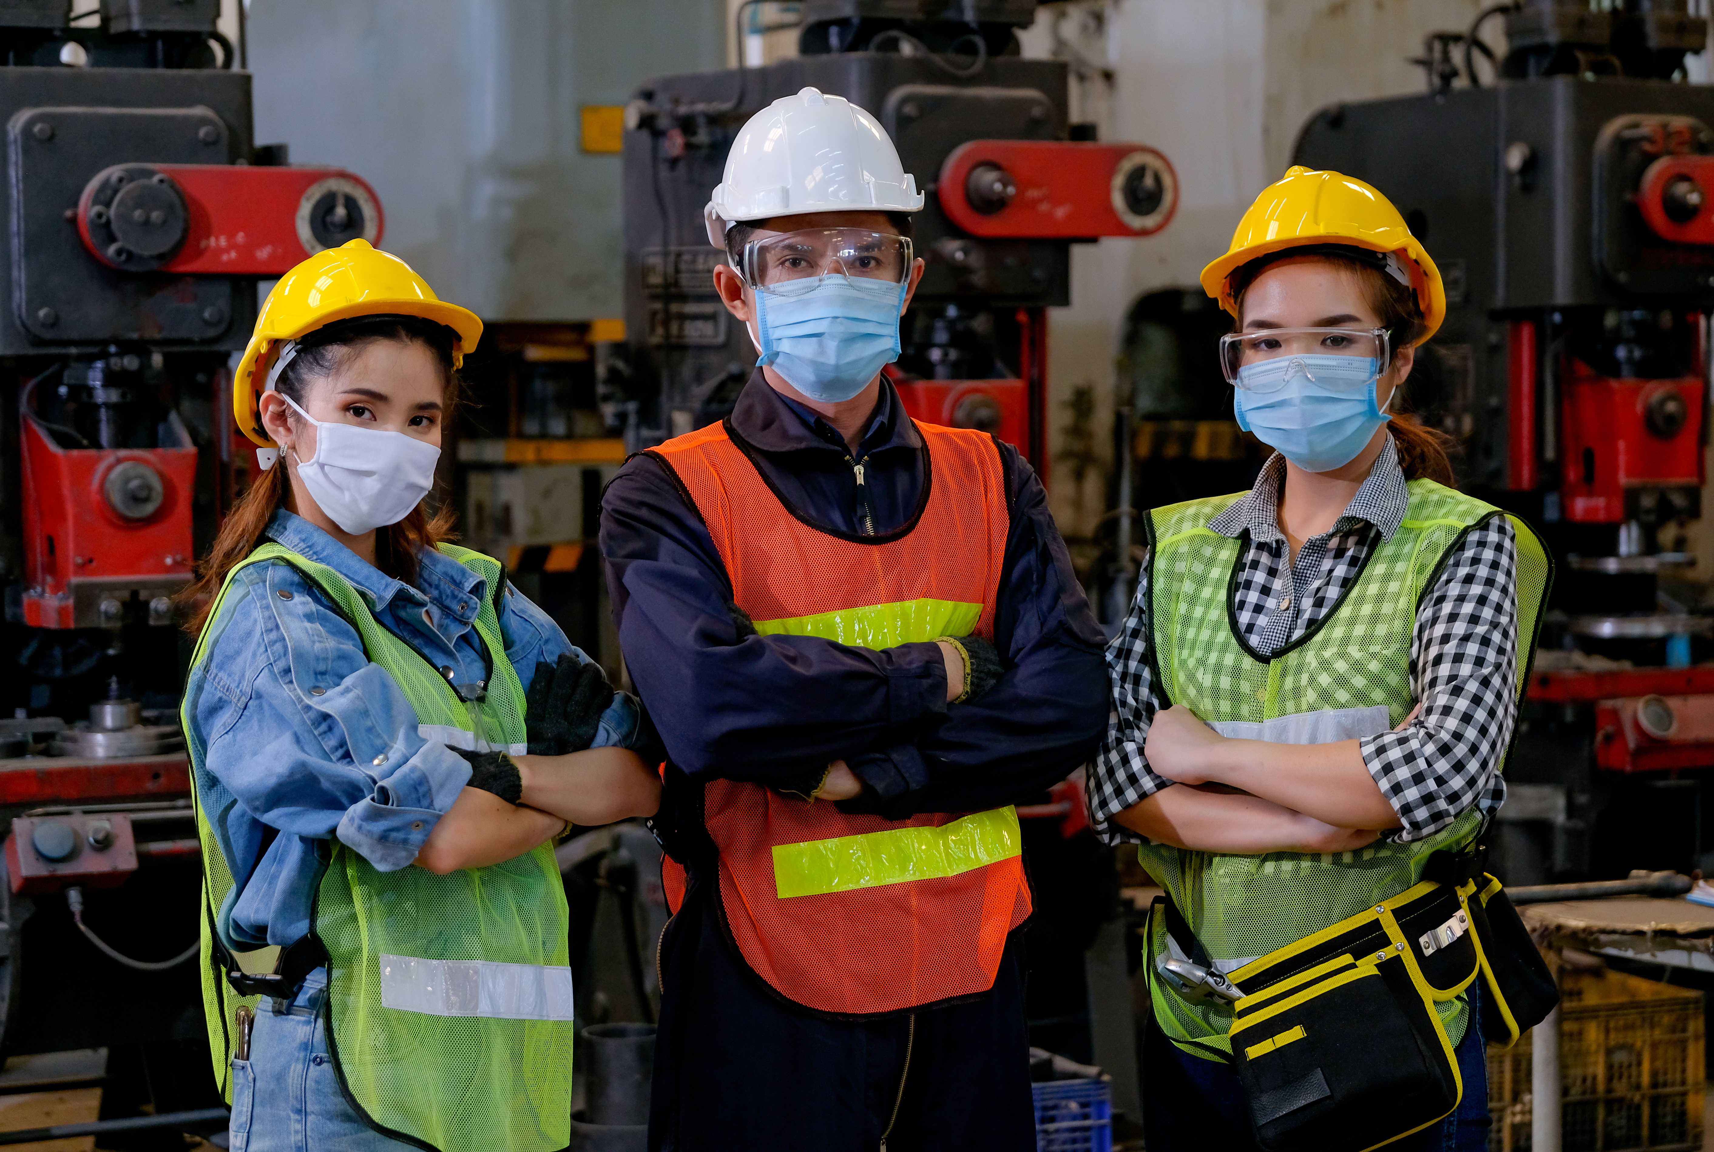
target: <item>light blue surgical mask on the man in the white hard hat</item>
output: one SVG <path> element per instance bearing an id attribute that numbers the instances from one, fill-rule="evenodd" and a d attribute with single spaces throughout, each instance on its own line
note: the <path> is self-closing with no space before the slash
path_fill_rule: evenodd
<path id="1" fill-rule="evenodd" d="M 852 399 L 898 359 L 907 284 L 831 274 L 800 296 L 758 291 L 756 363 L 812 401 Z"/>

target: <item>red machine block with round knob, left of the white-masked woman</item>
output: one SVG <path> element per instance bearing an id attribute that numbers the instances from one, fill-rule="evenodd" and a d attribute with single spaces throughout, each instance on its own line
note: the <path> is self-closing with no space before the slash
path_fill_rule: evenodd
<path id="1" fill-rule="evenodd" d="M 21 413 L 24 466 L 24 623 L 34 628 L 93 628 L 120 623 L 123 604 L 151 604 L 154 623 L 170 621 L 165 597 L 192 568 L 190 500 L 197 450 L 189 435 L 175 448 L 62 448 L 34 413 Z M 182 430 L 180 430 L 182 431 Z M 118 469 L 130 467 L 118 474 Z M 147 469 L 159 505 L 132 519 L 115 502 L 115 483 Z M 149 483 L 142 478 L 142 483 Z M 161 601 L 161 603 L 158 603 Z"/>

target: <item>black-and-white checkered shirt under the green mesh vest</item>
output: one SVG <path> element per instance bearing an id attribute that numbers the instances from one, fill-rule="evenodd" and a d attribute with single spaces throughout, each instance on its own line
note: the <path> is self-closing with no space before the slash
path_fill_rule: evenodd
<path id="1" fill-rule="evenodd" d="M 1390 539 L 1409 503 L 1392 438 L 1332 531 L 1304 541 L 1291 560 L 1279 527 L 1286 459 L 1268 459 L 1256 486 L 1208 522 L 1244 539 L 1234 615 L 1256 652 L 1274 654 L 1306 633 L 1340 601 L 1369 551 Z M 1369 775 L 1399 813 L 1395 840 L 1419 840 L 1448 827 L 1472 805 L 1505 801 L 1500 763 L 1517 721 L 1517 536 L 1491 517 L 1447 556 L 1423 597 L 1411 637 L 1411 692 L 1423 710 L 1397 733 L 1361 741 Z M 1107 645 L 1112 716 L 1088 777 L 1090 820 L 1107 844 L 1142 840 L 1114 816 L 1169 786 L 1148 769 L 1143 743 L 1159 707 L 1148 666 L 1148 572 L 1131 613 Z"/>

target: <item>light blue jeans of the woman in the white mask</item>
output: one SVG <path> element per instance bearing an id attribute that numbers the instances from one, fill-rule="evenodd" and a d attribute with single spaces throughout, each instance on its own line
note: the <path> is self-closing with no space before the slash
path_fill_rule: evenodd
<path id="1" fill-rule="evenodd" d="M 250 1058 L 231 1061 L 230 1152 L 401 1152 L 351 1111 L 327 1054 L 322 1001 L 327 969 L 315 969 L 288 1003 L 255 1010 Z"/>

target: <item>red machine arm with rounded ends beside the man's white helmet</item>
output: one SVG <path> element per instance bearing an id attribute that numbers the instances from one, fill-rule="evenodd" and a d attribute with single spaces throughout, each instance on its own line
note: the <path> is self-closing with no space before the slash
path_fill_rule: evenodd
<path id="1" fill-rule="evenodd" d="M 1178 212 L 1178 173 L 1143 144 L 970 140 L 946 156 L 938 188 L 972 236 L 1148 236 Z"/>

